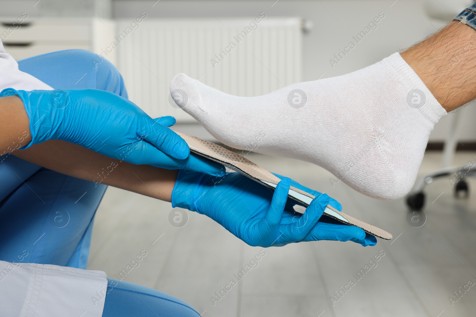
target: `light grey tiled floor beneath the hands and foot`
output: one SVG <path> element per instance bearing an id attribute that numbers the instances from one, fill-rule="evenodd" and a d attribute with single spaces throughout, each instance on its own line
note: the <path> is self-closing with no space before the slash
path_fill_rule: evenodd
<path id="1" fill-rule="evenodd" d="M 475 162 L 473 154 L 458 153 L 455 165 Z M 476 285 L 453 306 L 448 298 L 468 280 L 476 282 L 476 180 L 468 180 L 468 199 L 455 199 L 447 179 L 429 184 L 427 221 L 413 228 L 403 199 L 377 201 L 344 183 L 333 186 L 332 175 L 310 163 L 248 157 L 328 193 L 345 212 L 390 231 L 394 240 L 379 239 L 377 246 L 366 248 L 335 241 L 268 248 L 258 267 L 214 305 L 210 297 L 236 279 L 234 274 L 262 249 L 246 245 L 195 212 L 188 211 L 187 225 L 175 228 L 169 223 L 170 203 L 109 188 L 96 215 L 88 268 L 117 279 L 114 274 L 146 250 L 140 266 L 124 280 L 181 298 L 199 313 L 205 311 L 204 317 L 475 316 Z M 426 154 L 421 173 L 437 169 L 440 161 L 441 154 Z M 357 280 L 353 274 L 379 251 L 385 255 L 377 266 Z M 332 305 L 330 296 L 337 300 L 334 292 L 350 279 L 355 285 Z"/>

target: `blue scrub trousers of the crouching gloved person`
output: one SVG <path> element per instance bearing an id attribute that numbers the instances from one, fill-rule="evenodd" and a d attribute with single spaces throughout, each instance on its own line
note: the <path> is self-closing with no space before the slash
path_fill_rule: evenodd
<path id="1" fill-rule="evenodd" d="M 95 88 L 128 97 L 117 68 L 89 51 L 65 50 L 27 58 L 19 61 L 19 68 L 55 89 Z M 11 154 L 0 161 L 0 259 L 86 269 L 94 215 L 107 186 Z M 199 314 L 178 298 L 108 279 L 103 316 Z"/>

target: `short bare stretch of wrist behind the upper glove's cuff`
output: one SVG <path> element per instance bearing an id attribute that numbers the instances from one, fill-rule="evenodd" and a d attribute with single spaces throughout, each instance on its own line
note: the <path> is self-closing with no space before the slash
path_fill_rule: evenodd
<path id="1" fill-rule="evenodd" d="M 0 155 L 29 144 L 30 119 L 18 96 L 0 97 Z"/>

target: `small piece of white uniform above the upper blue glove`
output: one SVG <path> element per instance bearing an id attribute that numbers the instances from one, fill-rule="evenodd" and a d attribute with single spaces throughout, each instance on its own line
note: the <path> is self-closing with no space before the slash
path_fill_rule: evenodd
<path id="1" fill-rule="evenodd" d="M 52 90 L 50 86 L 43 83 L 30 74 L 18 69 L 17 61 L 5 52 L 3 44 L 0 41 L 0 91 L 5 88 L 14 88 L 20 90 Z"/>

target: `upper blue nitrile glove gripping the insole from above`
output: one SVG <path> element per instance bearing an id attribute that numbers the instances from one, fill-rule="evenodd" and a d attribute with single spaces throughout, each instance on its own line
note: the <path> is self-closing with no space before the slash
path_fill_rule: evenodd
<path id="1" fill-rule="evenodd" d="M 154 121 L 129 100 L 98 89 L 15 90 L 30 118 L 31 142 L 50 139 L 79 144 L 100 154 L 134 164 L 160 164 L 222 175 L 224 167 L 189 156 L 187 143 Z"/>

